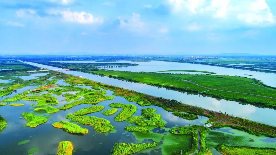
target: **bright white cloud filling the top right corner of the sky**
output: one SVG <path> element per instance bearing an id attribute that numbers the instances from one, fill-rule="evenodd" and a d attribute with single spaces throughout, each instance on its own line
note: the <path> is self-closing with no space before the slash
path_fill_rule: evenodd
<path id="1" fill-rule="evenodd" d="M 244 12 L 238 13 L 237 18 L 249 25 L 275 24 L 275 17 L 270 11 L 265 0 L 250 2 L 248 8 L 242 8 Z"/>

